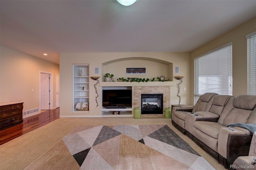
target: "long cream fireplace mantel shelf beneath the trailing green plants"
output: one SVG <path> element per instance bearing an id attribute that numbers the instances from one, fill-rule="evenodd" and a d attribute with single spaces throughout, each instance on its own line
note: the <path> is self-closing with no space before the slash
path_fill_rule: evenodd
<path id="1" fill-rule="evenodd" d="M 166 82 L 100 82 L 100 86 L 174 86 L 173 81 Z"/>

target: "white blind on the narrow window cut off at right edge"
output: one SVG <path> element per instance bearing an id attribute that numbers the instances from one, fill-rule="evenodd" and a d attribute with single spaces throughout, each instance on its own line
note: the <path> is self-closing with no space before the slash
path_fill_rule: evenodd
<path id="1" fill-rule="evenodd" d="M 256 32 L 247 38 L 247 94 L 256 95 Z"/>

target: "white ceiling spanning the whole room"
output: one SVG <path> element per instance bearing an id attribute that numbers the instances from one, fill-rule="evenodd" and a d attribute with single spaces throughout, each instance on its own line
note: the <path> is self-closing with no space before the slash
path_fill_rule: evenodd
<path id="1" fill-rule="evenodd" d="M 256 0 L 1 0 L 0 43 L 62 52 L 191 52 L 256 16 Z M 43 53 L 48 56 L 43 56 Z"/>

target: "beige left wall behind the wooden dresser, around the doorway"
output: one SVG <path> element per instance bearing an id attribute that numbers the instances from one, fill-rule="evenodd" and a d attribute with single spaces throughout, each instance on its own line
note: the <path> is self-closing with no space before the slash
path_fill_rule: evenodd
<path id="1" fill-rule="evenodd" d="M 0 102 L 24 102 L 23 111 L 39 108 L 40 71 L 44 71 L 53 75 L 55 108 L 55 78 L 60 73 L 59 65 L 4 46 L 0 48 Z"/>

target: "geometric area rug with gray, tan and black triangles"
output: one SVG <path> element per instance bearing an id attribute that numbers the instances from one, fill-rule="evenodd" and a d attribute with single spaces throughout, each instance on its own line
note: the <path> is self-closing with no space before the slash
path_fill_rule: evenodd
<path id="1" fill-rule="evenodd" d="M 62 140 L 80 170 L 214 170 L 167 125 L 77 126 Z"/>

